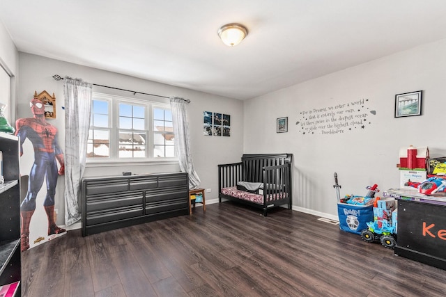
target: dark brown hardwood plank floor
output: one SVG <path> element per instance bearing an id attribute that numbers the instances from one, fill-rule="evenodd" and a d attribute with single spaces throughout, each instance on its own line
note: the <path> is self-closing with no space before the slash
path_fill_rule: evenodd
<path id="1" fill-rule="evenodd" d="M 446 271 L 318 217 L 239 204 L 22 254 L 22 296 L 446 296 Z"/>

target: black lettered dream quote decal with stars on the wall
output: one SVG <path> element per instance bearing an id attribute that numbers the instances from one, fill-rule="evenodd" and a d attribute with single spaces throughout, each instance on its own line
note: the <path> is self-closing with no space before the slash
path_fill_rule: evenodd
<path id="1" fill-rule="evenodd" d="M 309 109 L 299 113 L 299 133 L 302 134 L 342 134 L 355 129 L 365 129 L 371 124 L 371 116 L 376 111 L 369 111 L 369 99 L 334 104 L 319 109 Z"/>

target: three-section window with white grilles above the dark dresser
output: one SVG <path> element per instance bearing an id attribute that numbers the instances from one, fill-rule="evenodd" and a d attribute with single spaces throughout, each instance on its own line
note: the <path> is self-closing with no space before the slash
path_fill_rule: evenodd
<path id="1" fill-rule="evenodd" d="M 175 157 L 169 104 L 93 93 L 87 160 Z"/>

